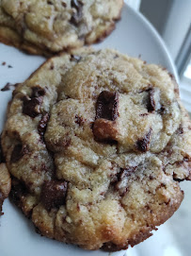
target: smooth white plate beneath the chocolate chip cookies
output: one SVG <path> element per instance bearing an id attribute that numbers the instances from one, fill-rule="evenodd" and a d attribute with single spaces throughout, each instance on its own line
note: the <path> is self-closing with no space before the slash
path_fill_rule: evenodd
<path id="1" fill-rule="evenodd" d="M 117 29 L 96 48 L 112 47 L 134 57 L 141 55 L 142 60 L 161 64 L 176 76 L 166 46 L 150 23 L 130 9 L 122 10 L 122 18 Z M 26 55 L 13 47 L 0 43 L 0 88 L 7 82 L 22 82 L 34 72 L 45 59 Z M 6 61 L 6 65 L 1 65 Z M 8 68 L 8 64 L 13 68 Z M 11 92 L 0 92 L 0 129 L 3 128 L 5 113 Z M 78 247 L 67 246 L 36 234 L 30 221 L 9 200 L 4 204 L 5 215 L 0 218 L 0 255 L 1 256 L 104 256 L 124 255 L 124 251 L 108 254 L 103 251 L 85 251 Z M 130 248 L 128 255 L 136 255 Z M 140 254 L 139 254 L 140 255 Z"/>

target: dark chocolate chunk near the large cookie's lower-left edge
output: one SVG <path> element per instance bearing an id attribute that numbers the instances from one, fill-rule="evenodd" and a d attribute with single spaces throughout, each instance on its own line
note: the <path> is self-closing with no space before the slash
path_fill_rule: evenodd
<path id="1" fill-rule="evenodd" d="M 65 203 L 67 182 L 52 180 L 46 181 L 41 188 L 41 202 L 47 211 Z"/>

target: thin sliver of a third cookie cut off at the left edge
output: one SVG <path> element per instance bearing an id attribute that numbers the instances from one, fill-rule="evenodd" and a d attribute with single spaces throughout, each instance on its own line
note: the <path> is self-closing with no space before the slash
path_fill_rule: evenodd
<path id="1" fill-rule="evenodd" d="M 2 205 L 4 200 L 8 197 L 10 192 L 11 182 L 10 176 L 6 164 L 4 163 L 4 157 L 1 150 L 0 142 L 0 216 L 2 213 Z"/>

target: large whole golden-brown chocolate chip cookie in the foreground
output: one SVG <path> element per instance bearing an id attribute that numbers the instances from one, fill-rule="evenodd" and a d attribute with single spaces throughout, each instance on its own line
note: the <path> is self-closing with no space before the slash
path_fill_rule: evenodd
<path id="1" fill-rule="evenodd" d="M 183 200 L 190 129 L 166 69 L 114 50 L 61 54 L 8 105 L 11 196 L 44 236 L 86 249 L 135 246 Z"/>

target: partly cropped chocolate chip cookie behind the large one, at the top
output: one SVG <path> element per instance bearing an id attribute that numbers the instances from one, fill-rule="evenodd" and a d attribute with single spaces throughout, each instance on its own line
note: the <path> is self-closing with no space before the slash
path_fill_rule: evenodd
<path id="1" fill-rule="evenodd" d="M 123 0 L 0 0 L 0 42 L 31 54 L 102 41 L 115 28 Z"/>

